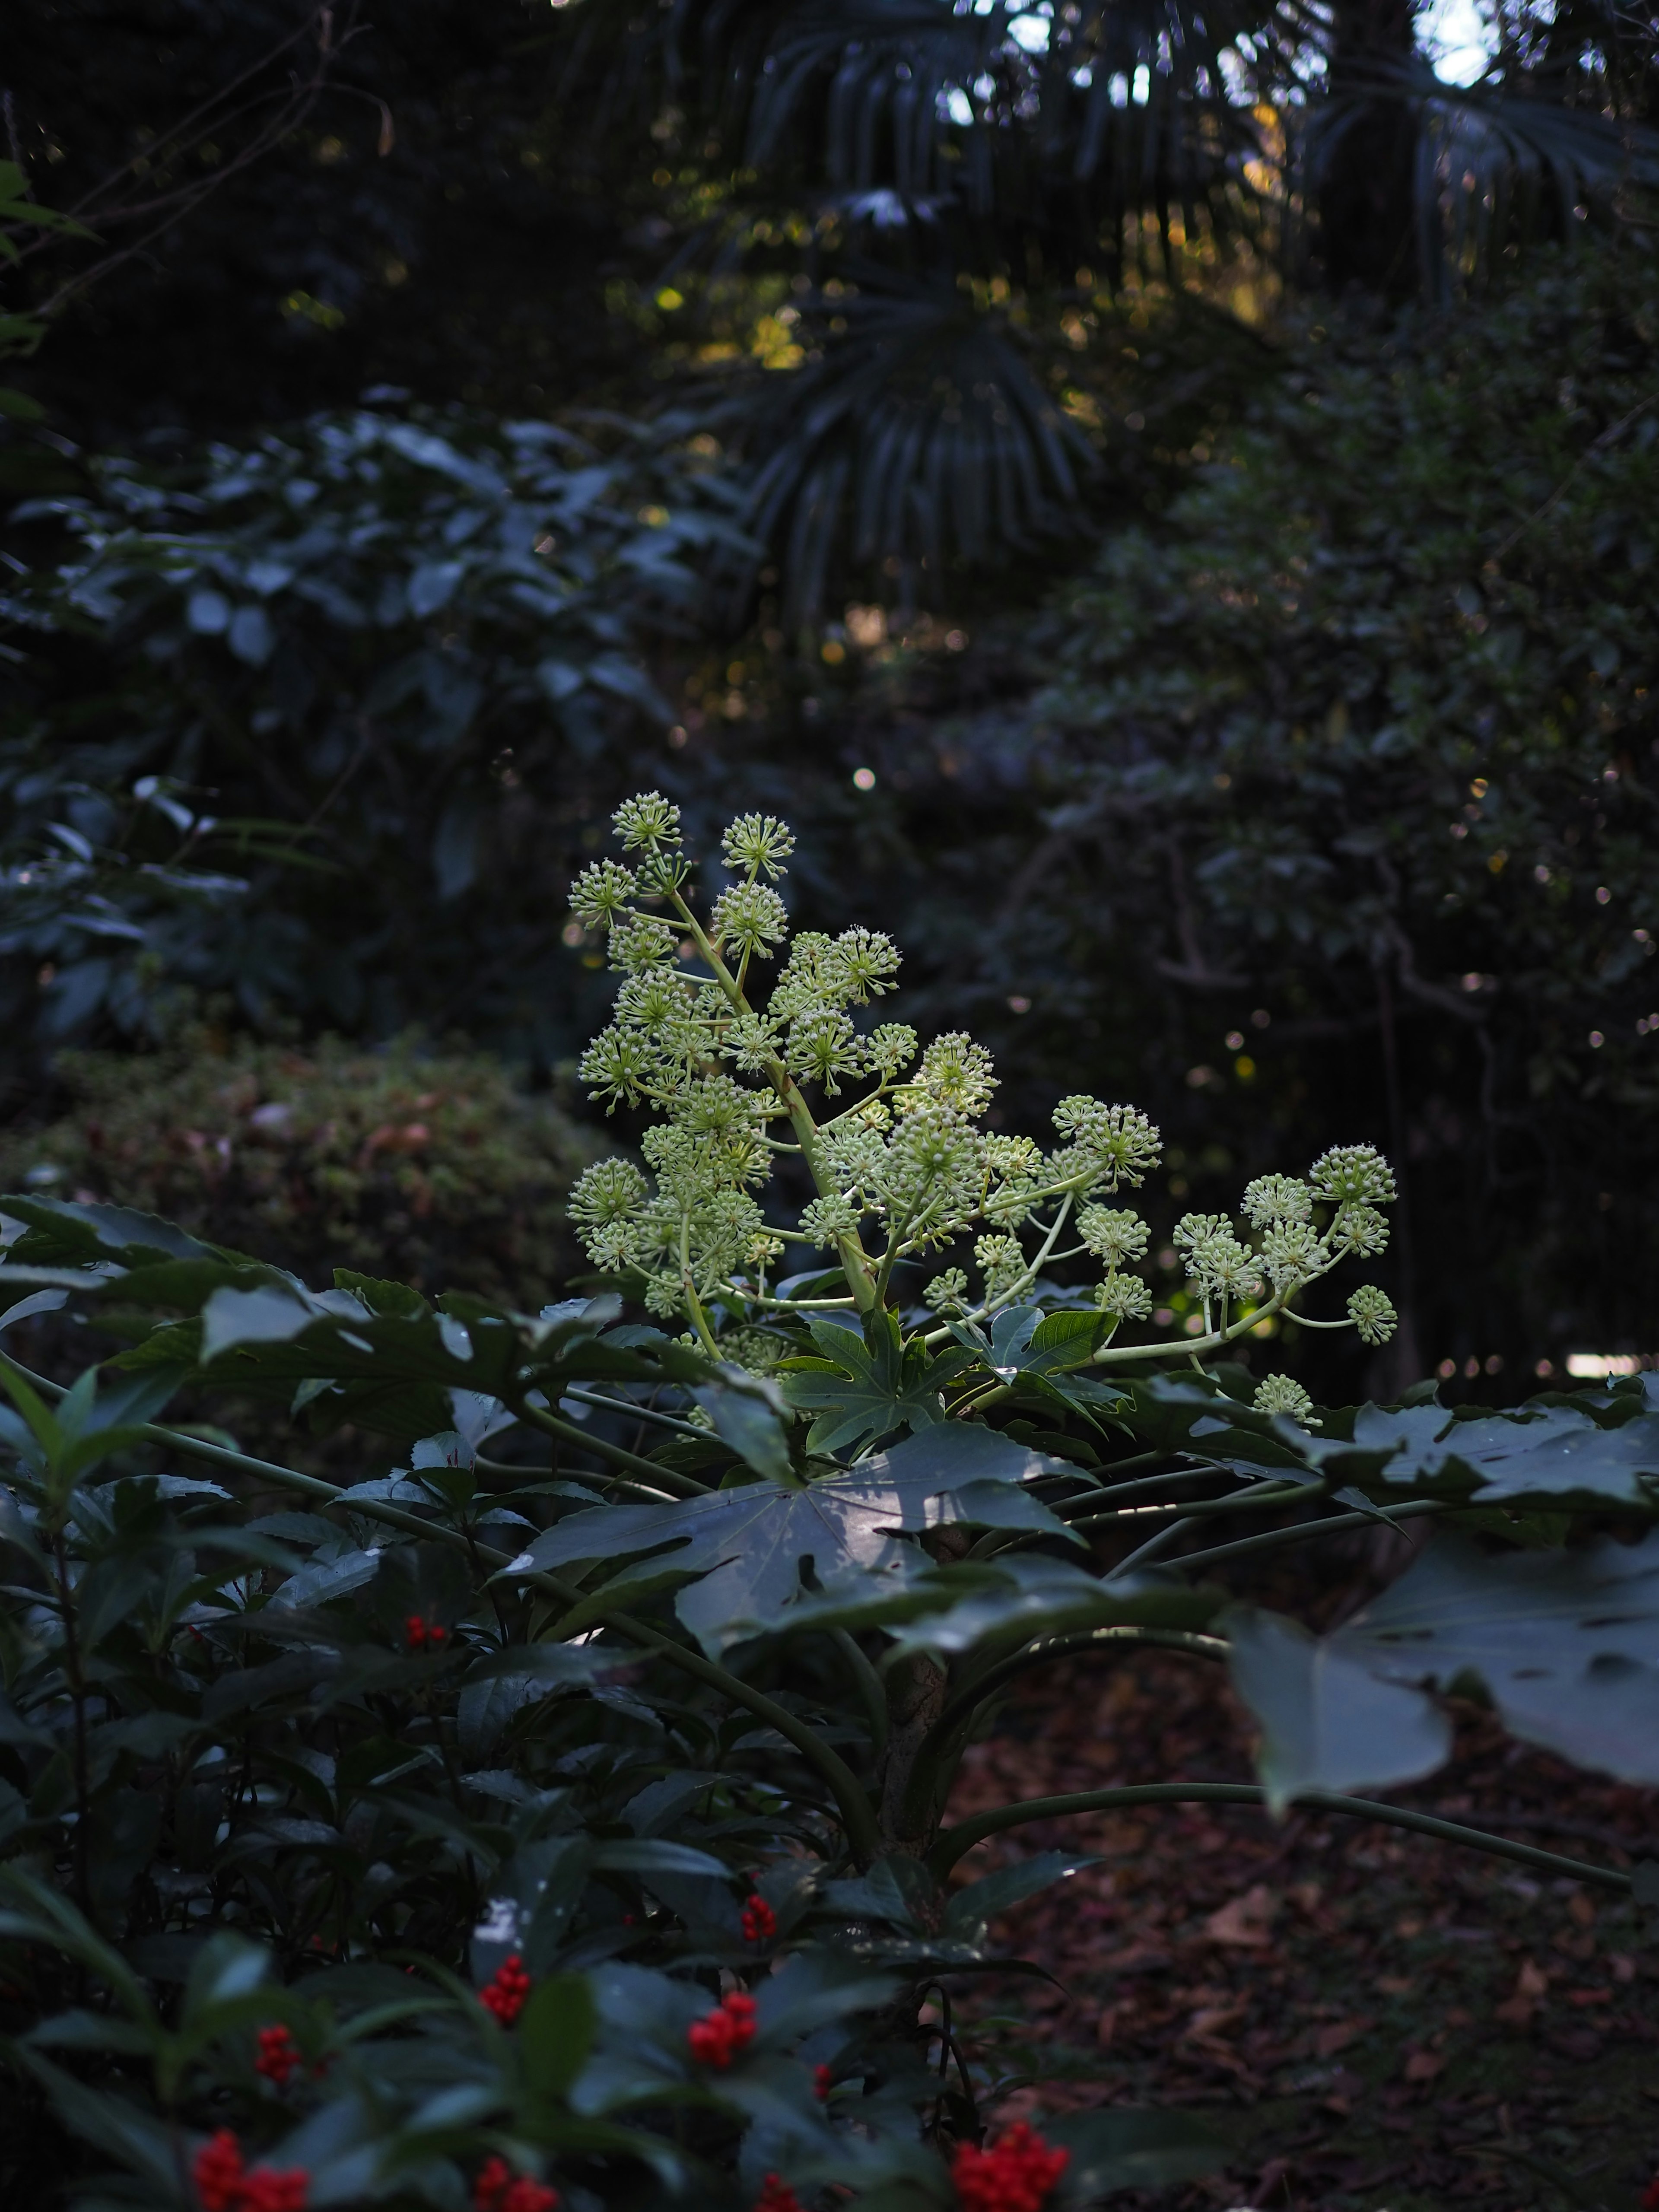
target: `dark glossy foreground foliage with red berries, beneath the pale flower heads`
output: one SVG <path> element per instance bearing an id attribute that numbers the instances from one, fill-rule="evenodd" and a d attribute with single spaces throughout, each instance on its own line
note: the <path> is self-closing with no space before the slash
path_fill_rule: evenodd
<path id="1" fill-rule="evenodd" d="M 1442 1429 L 1502 1425 L 1418 1402 L 1310 1431 L 1210 1376 L 1135 1383 L 1102 1420 L 1037 1371 L 1077 1354 L 1062 1312 L 1033 1363 L 940 1376 L 920 1433 L 823 1460 L 772 1385 L 619 1325 L 613 1296 L 533 1318 L 349 1272 L 316 1294 L 133 1210 L 18 1194 L 0 1221 L 0 1325 L 64 1305 L 148 1323 L 71 1387 L 0 1360 L 0 2064 L 27 2115 L 0 2174 L 40 2205 L 212 2212 L 201 2157 L 230 2130 L 312 2205 L 456 2212 L 504 2157 L 573 2212 L 641 2192 L 739 2212 L 765 2174 L 807 2212 L 847 2190 L 945 2212 L 953 2146 L 1015 2084 L 922 2006 L 1015 1966 L 998 1918 L 1079 1865 L 1044 1851 L 947 1889 L 956 1863 L 1119 1796 L 1259 1796 L 1175 1781 L 953 1827 L 973 1728 L 1060 1650 L 1223 1655 L 1190 1630 L 1223 1606 L 1206 1540 L 1230 1522 L 1294 1544 L 1356 1498 L 1455 1522 L 1458 1500 L 1400 1493 L 1449 1464 Z M 779 1332 L 805 1352 L 796 1316 Z M 186 1385 L 332 1407 L 358 1467 L 330 1482 L 170 1427 Z M 1031 1411 L 1053 1453 L 1013 1433 Z M 1573 1871 L 1332 1796 L 1433 1765 L 1425 1690 L 1453 1677 L 1528 1736 L 1652 1772 L 1659 1413 L 1619 1385 L 1506 1427 L 1537 1420 L 1579 1425 L 1584 1460 L 1617 1449 L 1635 1542 L 1526 1548 L 1524 1517 L 1475 1513 L 1484 1548 L 1433 1544 L 1323 1659 L 1290 1621 L 1228 1615 L 1272 1796 Z M 1113 1568 L 1152 1495 L 1166 1564 Z M 1526 1509 L 1566 1522 L 1582 1495 L 1540 1471 Z M 810 1551 L 757 1546 L 768 1515 L 816 1515 Z M 695 1522 L 728 1533 L 664 1553 Z M 1396 1705 L 1427 1743 L 1407 1765 Z M 1053 2212 L 1221 2157 L 1181 2115 L 1044 2132 L 1068 2152 Z"/>

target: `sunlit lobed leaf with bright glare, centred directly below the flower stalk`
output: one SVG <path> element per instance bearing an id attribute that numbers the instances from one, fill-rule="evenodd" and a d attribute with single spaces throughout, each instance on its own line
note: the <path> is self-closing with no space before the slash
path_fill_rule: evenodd
<path id="1" fill-rule="evenodd" d="M 1037 1475 L 1071 1475 L 1064 1460 L 1029 1451 L 993 1429 L 938 1422 L 891 1451 L 816 1482 L 745 1482 L 664 1506 L 597 1506 L 538 1535 L 507 1575 L 626 1559 L 677 1546 L 666 1566 L 699 1579 L 675 1610 L 717 1652 L 763 1628 L 787 1628 L 812 1564 L 823 1590 L 858 1599 L 902 1590 L 931 1562 L 902 1535 L 951 1522 L 1033 1528 L 1077 1542 L 1026 1489 Z"/>

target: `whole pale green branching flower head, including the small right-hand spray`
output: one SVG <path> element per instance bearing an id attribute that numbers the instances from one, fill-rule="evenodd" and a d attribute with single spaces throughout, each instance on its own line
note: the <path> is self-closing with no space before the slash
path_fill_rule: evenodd
<path id="1" fill-rule="evenodd" d="M 1150 1230 L 1102 1201 L 1137 1190 L 1157 1168 L 1152 1121 L 1137 1106 L 1079 1093 L 1055 1106 L 1051 1150 L 982 1128 L 998 1088 L 991 1053 L 960 1031 L 920 1048 L 914 1029 L 872 1018 L 896 987 L 891 938 L 792 936 L 776 883 L 794 834 L 770 814 L 741 814 L 726 830 L 730 880 L 701 920 L 679 807 L 644 792 L 617 807 L 615 830 L 628 863 L 599 860 L 571 885 L 573 911 L 606 933 L 619 975 L 613 1020 L 582 1057 L 582 1075 L 606 1110 L 648 1106 L 661 1119 L 641 1141 L 650 1175 L 597 1161 L 571 1194 L 571 1219 L 595 1265 L 639 1270 L 648 1310 L 690 1321 L 706 1349 L 730 1356 L 768 1316 L 867 1314 L 887 1303 L 900 1263 L 973 1239 L 978 1296 L 962 1265 L 927 1285 L 942 1316 L 933 1338 L 951 1323 L 1033 1303 L 1051 1265 L 1093 1256 L 1104 1263 L 1095 1307 L 1106 1316 L 1095 1358 L 1188 1358 L 1287 1310 L 1343 1259 L 1385 1248 L 1380 1208 L 1394 1199 L 1394 1175 L 1371 1146 L 1338 1146 L 1305 1179 L 1250 1183 L 1245 1234 L 1225 1214 L 1186 1214 L 1175 1245 L 1203 1307 L 1203 1336 L 1115 1347 L 1124 1323 L 1152 1312 L 1133 1272 Z M 814 1186 L 792 1225 L 763 1208 L 783 1155 L 801 1159 Z M 1064 1243 L 1068 1230 L 1075 1241 Z M 807 1267 L 823 1252 L 845 1292 L 825 1292 L 823 1276 L 812 1294 L 770 1292 L 792 1248 Z M 1378 1345 L 1394 1323 L 1387 1296 L 1365 1285 L 1347 1321 L 1312 1325 L 1354 1327 Z M 1281 1409 L 1296 1411 L 1294 1385 L 1281 1396 Z"/>

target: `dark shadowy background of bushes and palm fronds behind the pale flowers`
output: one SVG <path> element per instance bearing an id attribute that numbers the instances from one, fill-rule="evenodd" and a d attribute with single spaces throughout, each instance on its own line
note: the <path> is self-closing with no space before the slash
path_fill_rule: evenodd
<path id="1" fill-rule="evenodd" d="M 7 232 L 15 1157 L 64 1046 L 157 1126 L 184 1037 L 411 1029 L 584 1113 L 564 887 L 659 785 L 787 814 L 1009 1126 L 1150 1108 L 1159 1225 L 1383 1144 L 1407 1327 L 1274 1345 L 1318 1396 L 1652 1352 L 1659 80 L 1500 33 L 29 9 L 95 237 Z"/>

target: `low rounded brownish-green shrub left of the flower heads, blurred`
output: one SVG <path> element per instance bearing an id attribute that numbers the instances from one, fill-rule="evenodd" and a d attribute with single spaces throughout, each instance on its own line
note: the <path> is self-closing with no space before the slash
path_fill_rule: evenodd
<path id="1" fill-rule="evenodd" d="M 307 1283 L 540 1303 L 575 1261 L 564 1194 L 593 1139 L 500 1062 L 192 1031 L 155 1053 L 62 1053 L 73 1108 L 0 1139 L 0 1181 L 168 1214 Z"/>

